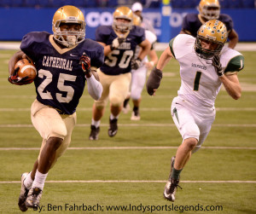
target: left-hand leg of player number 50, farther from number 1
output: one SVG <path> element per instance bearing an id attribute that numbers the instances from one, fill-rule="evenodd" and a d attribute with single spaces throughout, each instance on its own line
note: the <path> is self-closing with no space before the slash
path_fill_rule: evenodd
<path id="1" fill-rule="evenodd" d="M 105 113 L 105 107 L 108 103 L 108 93 L 109 93 L 109 76 L 101 72 L 100 69 L 97 70 L 100 82 L 102 84 L 102 97 L 99 101 L 95 101 L 92 107 L 92 119 L 90 124 L 90 141 L 96 141 L 99 138 L 101 119 Z"/>

